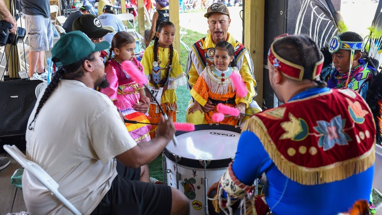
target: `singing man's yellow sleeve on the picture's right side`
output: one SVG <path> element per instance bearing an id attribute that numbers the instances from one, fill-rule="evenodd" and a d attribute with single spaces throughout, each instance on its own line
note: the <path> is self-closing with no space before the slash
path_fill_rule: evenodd
<path id="1" fill-rule="evenodd" d="M 245 98 L 238 98 L 236 99 L 236 104 L 239 104 L 240 102 L 246 104 L 246 108 L 249 107 L 249 104 L 252 102 L 252 98 L 256 96 L 255 86 L 256 81 L 253 79 L 251 73 L 249 73 L 249 65 L 247 58 L 243 56 L 243 65 L 240 68 L 240 75 L 241 78 L 243 78 L 243 81 L 245 85 L 247 86 L 248 94 L 245 96 Z"/>

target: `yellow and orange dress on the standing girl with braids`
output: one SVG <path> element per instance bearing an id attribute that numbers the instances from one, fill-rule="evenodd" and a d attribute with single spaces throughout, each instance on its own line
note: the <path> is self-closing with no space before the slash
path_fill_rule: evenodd
<path id="1" fill-rule="evenodd" d="M 158 88 L 163 87 L 163 83 L 166 82 L 167 77 L 167 90 L 162 93 L 162 97 L 160 100 L 160 105 L 163 108 L 163 111 L 165 114 L 168 115 L 168 117 L 172 117 L 173 121 L 176 121 L 176 93 L 175 90 L 178 88 L 178 86 L 185 85 L 187 83 L 186 77 L 183 73 L 183 70 L 180 66 L 179 56 L 178 52 L 176 50 L 173 50 L 173 57 L 172 57 L 172 65 L 170 69 L 170 75 L 168 76 L 167 69 L 168 69 L 168 61 L 169 61 L 169 48 L 161 48 L 158 47 L 158 62 L 154 62 L 154 46 L 149 46 L 146 48 L 141 63 L 144 69 L 144 73 L 149 79 L 149 86 Z M 153 63 L 155 66 L 159 66 L 160 69 L 155 72 L 153 72 Z M 154 80 L 155 79 L 155 80 Z M 159 107 L 156 104 L 150 104 L 149 108 L 149 115 L 151 116 L 150 122 L 151 123 L 158 123 L 160 119 L 160 115 L 162 113 L 160 112 Z M 151 137 L 155 137 L 155 130 L 157 129 L 157 126 L 152 125 L 151 127 Z"/>

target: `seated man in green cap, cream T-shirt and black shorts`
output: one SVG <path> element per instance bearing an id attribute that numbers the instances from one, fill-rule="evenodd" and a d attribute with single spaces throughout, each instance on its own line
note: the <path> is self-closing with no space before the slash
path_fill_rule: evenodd
<path id="1" fill-rule="evenodd" d="M 158 138 L 134 142 L 110 99 L 93 90 L 108 85 L 100 58 L 100 50 L 108 46 L 94 44 L 80 31 L 63 35 L 55 44 L 52 61 L 59 70 L 29 118 L 27 159 L 47 171 L 82 214 L 188 214 L 188 199 L 180 191 L 117 174 L 116 159 L 132 168 L 149 163 L 175 129 L 171 120 L 162 119 Z M 29 214 L 70 213 L 28 171 L 23 194 Z"/>

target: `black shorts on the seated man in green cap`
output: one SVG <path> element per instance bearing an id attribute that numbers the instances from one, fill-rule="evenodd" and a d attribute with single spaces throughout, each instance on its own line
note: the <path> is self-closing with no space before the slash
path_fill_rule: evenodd
<path id="1" fill-rule="evenodd" d="M 169 215 L 171 205 L 170 186 L 130 181 L 117 175 L 91 215 Z"/>

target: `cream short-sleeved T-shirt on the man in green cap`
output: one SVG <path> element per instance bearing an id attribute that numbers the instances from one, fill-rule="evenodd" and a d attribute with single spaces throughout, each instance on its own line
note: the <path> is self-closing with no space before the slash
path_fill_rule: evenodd
<path id="1" fill-rule="evenodd" d="M 26 131 L 27 159 L 52 176 L 58 191 L 83 214 L 97 207 L 117 176 L 113 158 L 136 146 L 110 99 L 75 80 L 60 80 L 32 127 Z M 26 171 L 23 195 L 30 215 L 70 214 Z"/>

